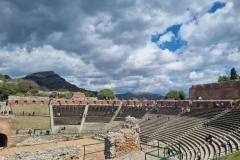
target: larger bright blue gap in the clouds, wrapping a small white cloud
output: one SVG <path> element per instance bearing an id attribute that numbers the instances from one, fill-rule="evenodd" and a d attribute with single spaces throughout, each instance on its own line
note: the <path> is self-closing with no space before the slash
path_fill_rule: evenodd
<path id="1" fill-rule="evenodd" d="M 165 35 L 167 32 L 172 32 L 174 34 L 174 37 L 172 37 L 172 40 L 170 42 L 163 42 L 162 44 L 159 44 L 159 48 L 161 49 L 168 49 L 170 51 L 176 51 L 177 49 L 179 49 L 180 47 L 182 47 L 183 45 L 187 45 L 186 41 L 183 41 L 181 39 L 181 37 L 179 37 L 178 32 L 180 30 L 180 27 L 182 25 L 181 24 L 177 24 L 177 25 L 173 25 L 171 27 L 168 27 L 164 33 L 162 34 L 157 34 L 157 35 L 152 35 L 152 42 L 158 43 L 159 39 L 161 38 L 161 36 Z"/>

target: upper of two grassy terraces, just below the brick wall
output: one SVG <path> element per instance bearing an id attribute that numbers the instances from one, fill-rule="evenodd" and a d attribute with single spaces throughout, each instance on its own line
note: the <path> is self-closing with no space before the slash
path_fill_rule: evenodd
<path id="1" fill-rule="evenodd" d="M 24 115 L 28 115 L 30 113 L 32 115 L 49 115 L 49 106 L 48 105 L 25 105 L 25 106 L 11 106 L 11 109 L 15 115 L 22 115 L 24 111 Z"/>

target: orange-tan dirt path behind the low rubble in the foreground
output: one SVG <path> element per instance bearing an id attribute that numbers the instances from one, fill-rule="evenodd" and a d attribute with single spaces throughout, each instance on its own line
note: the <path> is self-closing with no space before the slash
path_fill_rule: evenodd
<path id="1" fill-rule="evenodd" d="M 9 154 L 13 154 L 14 152 L 17 151 L 29 151 L 29 152 L 34 152 L 36 150 L 44 150 L 49 147 L 55 147 L 55 146 L 63 146 L 66 144 L 76 144 L 79 145 L 81 148 L 81 154 L 83 156 L 83 145 L 86 144 L 92 144 L 92 143 L 98 143 L 102 142 L 99 140 L 94 140 L 94 139 L 80 139 L 80 140 L 71 140 L 71 141 L 61 141 L 61 142 L 53 142 L 53 143 L 46 143 L 46 144 L 39 144 L 35 146 L 22 146 L 22 147 L 14 147 L 14 148 L 7 148 L 3 149 L 2 151 L 0 150 L 0 156 L 7 156 Z M 94 145 L 94 146 L 89 146 L 86 148 L 86 152 L 93 152 L 97 150 L 103 150 L 104 144 L 99 144 L 99 145 Z M 103 152 L 95 153 L 95 154 L 90 154 L 86 155 L 86 160 L 105 160 Z"/>

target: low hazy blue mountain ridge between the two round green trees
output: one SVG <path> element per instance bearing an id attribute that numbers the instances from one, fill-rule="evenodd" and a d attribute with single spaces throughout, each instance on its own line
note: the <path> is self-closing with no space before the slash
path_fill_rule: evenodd
<path id="1" fill-rule="evenodd" d="M 161 94 L 154 94 L 149 92 L 137 92 L 137 93 L 124 93 L 124 94 L 116 94 L 118 99 L 143 99 L 146 98 L 148 100 L 159 100 L 163 99 L 164 96 Z"/>

